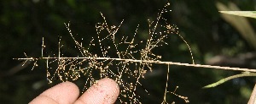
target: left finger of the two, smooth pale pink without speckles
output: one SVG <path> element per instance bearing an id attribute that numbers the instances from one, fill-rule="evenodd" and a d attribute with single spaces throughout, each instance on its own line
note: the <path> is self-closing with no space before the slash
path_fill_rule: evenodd
<path id="1" fill-rule="evenodd" d="M 71 104 L 79 97 L 79 88 L 71 82 L 63 82 L 45 90 L 30 104 Z"/>

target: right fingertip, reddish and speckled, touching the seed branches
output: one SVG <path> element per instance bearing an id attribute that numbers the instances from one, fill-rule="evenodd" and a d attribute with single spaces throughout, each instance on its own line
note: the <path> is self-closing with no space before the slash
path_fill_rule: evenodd
<path id="1" fill-rule="evenodd" d="M 100 79 L 86 90 L 75 104 L 113 104 L 119 96 L 119 85 L 113 79 Z"/>

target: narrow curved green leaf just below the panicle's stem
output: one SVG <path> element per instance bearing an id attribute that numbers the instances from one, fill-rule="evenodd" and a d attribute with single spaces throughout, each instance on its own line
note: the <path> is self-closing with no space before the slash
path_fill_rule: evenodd
<path id="1" fill-rule="evenodd" d="M 213 83 L 211 85 L 204 86 L 203 89 L 212 88 L 212 87 L 215 87 L 217 85 L 221 85 L 221 84 L 223 84 L 224 82 L 226 82 L 226 81 L 228 81 L 230 79 L 236 79 L 236 78 L 246 77 L 246 76 L 256 76 L 256 73 L 244 72 L 242 74 L 232 75 L 230 77 L 227 77 L 227 78 L 224 78 L 224 79 L 220 79 L 218 82 L 215 82 L 215 83 Z"/>

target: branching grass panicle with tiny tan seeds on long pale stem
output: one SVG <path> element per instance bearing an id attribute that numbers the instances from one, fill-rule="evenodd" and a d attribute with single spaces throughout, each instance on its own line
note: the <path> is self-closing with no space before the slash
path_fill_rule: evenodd
<path id="1" fill-rule="evenodd" d="M 135 41 L 137 36 L 137 29 L 135 30 L 134 36 L 130 39 L 128 36 L 123 36 L 118 39 L 118 30 L 122 25 L 123 21 L 120 22 L 118 26 L 108 25 L 106 18 L 102 15 L 103 22 L 96 24 L 96 36 L 93 36 L 90 40 L 88 48 L 84 48 L 81 42 L 77 41 L 72 34 L 72 31 L 69 28 L 69 23 L 65 24 L 70 36 L 73 38 L 73 41 L 76 44 L 76 47 L 79 49 L 79 53 L 82 57 L 65 57 L 61 53 L 61 37 L 59 38 L 59 52 L 58 56 L 48 56 L 44 57 L 44 37 L 42 42 L 42 57 L 27 57 L 18 58 L 18 60 L 25 60 L 25 63 L 32 61 L 33 67 L 38 66 L 38 60 L 44 59 L 46 63 L 47 79 L 49 83 L 52 83 L 55 79 L 60 79 L 61 81 L 67 80 L 76 80 L 85 77 L 84 90 L 87 90 L 89 86 L 94 84 L 97 79 L 102 79 L 108 77 L 114 79 L 120 86 L 120 96 L 119 102 L 125 103 L 141 103 L 140 96 L 137 95 L 137 89 L 139 86 L 142 86 L 140 83 L 141 79 L 144 79 L 144 74 L 149 70 L 153 70 L 153 64 L 166 64 L 168 65 L 168 71 L 166 75 L 166 90 L 164 92 L 164 97 L 162 103 L 167 103 L 166 94 L 171 93 L 181 99 L 186 103 L 189 102 L 188 97 L 179 96 L 176 94 L 176 90 L 168 91 L 167 87 L 168 74 L 169 74 L 169 65 L 183 65 L 191 67 L 201 67 L 201 68 L 222 68 L 222 69 L 231 69 L 239 71 L 248 71 L 256 72 L 254 69 L 247 68 L 229 68 L 229 67 L 220 67 L 220 66 L 210 66 L 210 65 L 201 65 L 195 64 L 193 54 L 189 47 L 189 43 L 183 39 L 178 32 L 176 25 L 171 25 L 167 22 L 166 19 L 162 18 L 162 14 L 170 12 L 167 7 L 170 3 L 167 3 L 163 9 L 160 10 L 160 13 L 157 16 L 155 21 L 148 20 L 148 41 L 143 49 L 137 50 L 139 44 L 144 41 Z M 163 20 L 166 24 L 159 25 L 160 20 Z M 163 31 L 158 32 L 158 28 L 164 28 Z M 108 33 L 107 35 L 104 33 Z M 189 47 L 189 52 L 192 58 L 192 64 L 190 63 L 173 63 L 173 62 L 162 62 L 160 61 L 161 56 L 153 52 L 156 47 L 161 47 L 163 45 L 168 45 L 165 42 L 167 38 L 170 37 L 170 34 L 175 34 L 179 36 L 185 44 Z M 125 50 L 124 50 L 125 49 Z M 94 51 L 100 50 L 100 54 L 96 54 Z M 135 57 L 135 56 L 139 57 Z M 56 65 L 57 68 L 52 66 Z M 83 78 L 84 78 L 83 77 Z M 83 90 L 83 91 L 84 91 Z M 144 89 L 145 90 L 145 89 Z M 148 90 L 145 90 L 148 93 Z M 172 102 L 173 103 L 173 102 Z"/>

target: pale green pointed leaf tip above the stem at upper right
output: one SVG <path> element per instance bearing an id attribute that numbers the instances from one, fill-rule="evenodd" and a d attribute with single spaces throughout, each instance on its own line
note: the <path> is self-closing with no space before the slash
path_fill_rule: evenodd
<path id="1" fill-rule="evenodd" d="M 256 11 L 219 11 L 223 14 L 233 14 L 242 17 L 249 17 L 256 19 Z"/>

